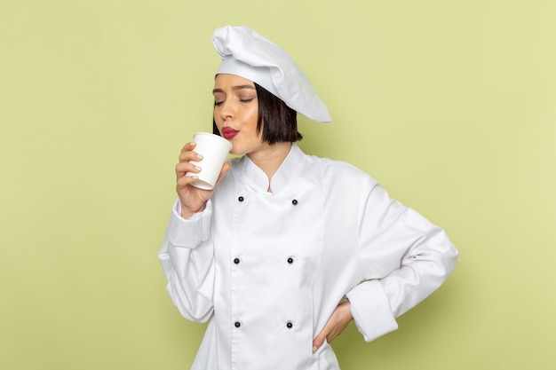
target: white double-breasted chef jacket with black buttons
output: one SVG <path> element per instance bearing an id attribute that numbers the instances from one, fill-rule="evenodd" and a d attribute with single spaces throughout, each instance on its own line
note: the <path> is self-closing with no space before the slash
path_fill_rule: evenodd
<path id="1" fill-rule="evenodd" d="M 202 213 L 171 211 L 167 290 L 186 319 L 210 319 L 193 370 L 339 369 L 327 342 L 312 347 L 342 297 L 369 342 L 456 265 L 441 228 L 350 164 L 294 144 L 268 185 L 243 156 Z"/>

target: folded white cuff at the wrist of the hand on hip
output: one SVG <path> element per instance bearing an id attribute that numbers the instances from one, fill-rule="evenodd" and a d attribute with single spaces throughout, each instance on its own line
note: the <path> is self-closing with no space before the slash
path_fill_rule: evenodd
<path id="1" fill-rule="evenodd" d="M 355 326 L 366 342 L 393 332 L 398 323 L 378 280 L 365 281 L 347 293 Z"/>

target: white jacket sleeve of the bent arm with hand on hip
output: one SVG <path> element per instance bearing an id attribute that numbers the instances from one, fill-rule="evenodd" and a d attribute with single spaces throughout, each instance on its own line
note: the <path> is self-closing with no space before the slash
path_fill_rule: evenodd
<path id="1" fill-rule="evenodd" d="M 395 318 L 431 295 L 457 263 L 446 233 L 379 185 L 362 201 L 361 264 L 367 281 L 347 298 L 367 342 L 397 329 Z"/>

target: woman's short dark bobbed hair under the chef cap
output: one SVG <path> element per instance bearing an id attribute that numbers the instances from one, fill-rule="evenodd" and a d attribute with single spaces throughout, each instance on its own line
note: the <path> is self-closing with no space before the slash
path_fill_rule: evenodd
<path id="1" fill-rule="evenodd" d="M 298 132 L 298 112 L 271 92 L 255 83 L 258 99 L 257 132 L 263 129 L 262 141 L 270 145 L 280 142 L 295 142 L 303 136 Z M 263 124 L 264 122 L 264 124 Z M 212 117 L 212 132 L 220 135 Z"/>

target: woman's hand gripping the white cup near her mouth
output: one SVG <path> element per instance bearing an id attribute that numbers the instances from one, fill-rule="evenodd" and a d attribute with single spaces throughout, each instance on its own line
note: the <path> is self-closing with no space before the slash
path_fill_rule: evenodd
<path id="1" fill-rule="evenodd" d="M 195 213 L 202 212 L 214 192 L 214 190 L 203 190 L 191 185 L 197 180 L 197 177 L 195 175 L 186 176 L 187 172 L 196 174 L 201 170 L 189 161 L 201 161 L 200 165 L 203 166 L 203 157 L 195 153 L 194 149 L 195 143 L 187 143 L 181 149 L 179 163 L 176 165 L 176 191 L 181 202 L 181 216 L 184 218 L 190 218 Z M 230 167 L 230 163 L 224 163 L 217 184 L 226 175 Z"/>

